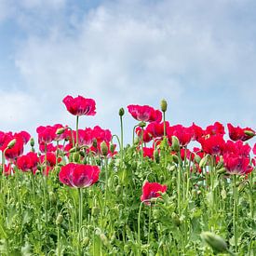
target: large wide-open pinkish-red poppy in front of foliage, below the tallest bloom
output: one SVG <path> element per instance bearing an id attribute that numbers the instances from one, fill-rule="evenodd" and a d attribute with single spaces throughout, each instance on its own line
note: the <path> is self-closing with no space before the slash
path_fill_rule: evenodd
<path id="1" fill-rule="evenodd" d="M 59 178 L 70 187 L 88 187 L 98 182 L 100 172 L 97 166 L 69 163 L 61 168 Z"/>

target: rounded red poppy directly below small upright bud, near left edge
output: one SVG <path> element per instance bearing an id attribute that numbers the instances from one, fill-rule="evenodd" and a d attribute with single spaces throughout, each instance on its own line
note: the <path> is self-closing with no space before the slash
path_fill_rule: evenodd
<path id="1" fill-rule="evenodd" d="M 34 152 L 22 155 L 17 159 L 17 167 L 22 171 L 33 171 L 37 169 L 39 158 Z"/>

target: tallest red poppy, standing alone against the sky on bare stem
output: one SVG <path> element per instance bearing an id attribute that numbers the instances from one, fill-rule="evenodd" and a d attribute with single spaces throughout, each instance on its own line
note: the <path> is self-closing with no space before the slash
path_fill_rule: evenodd
<path id="1" fill-rule="evenodd" d="M 92 99 L 86 99 L 80 95 L 73 98 L 68 95 L 63 99 L 67 110 L 72 115 L 95 115 L 96 103 Z"/>

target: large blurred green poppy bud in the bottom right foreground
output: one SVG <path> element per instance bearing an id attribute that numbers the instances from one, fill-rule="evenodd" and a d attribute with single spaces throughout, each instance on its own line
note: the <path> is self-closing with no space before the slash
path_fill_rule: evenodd
<path id="1" fill-rule="evenodd" d="M 209 244 L 215 253 L 227 251 L 227 244 L 221 236 L 217 236 L 211 232 L 203 232 L 201 237 Z"/>

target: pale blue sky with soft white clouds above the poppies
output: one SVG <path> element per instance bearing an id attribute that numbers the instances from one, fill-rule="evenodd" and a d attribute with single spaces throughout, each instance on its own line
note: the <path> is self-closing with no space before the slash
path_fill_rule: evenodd
<path id="1" fill-rule="evenodd" d="M 74 127 L 68 94 L 97 102 L 81 127 L 165 98 L 171 124 L 255 128 L 255 22 L 254 0 L 0 0 L 0 130 Z"/>

